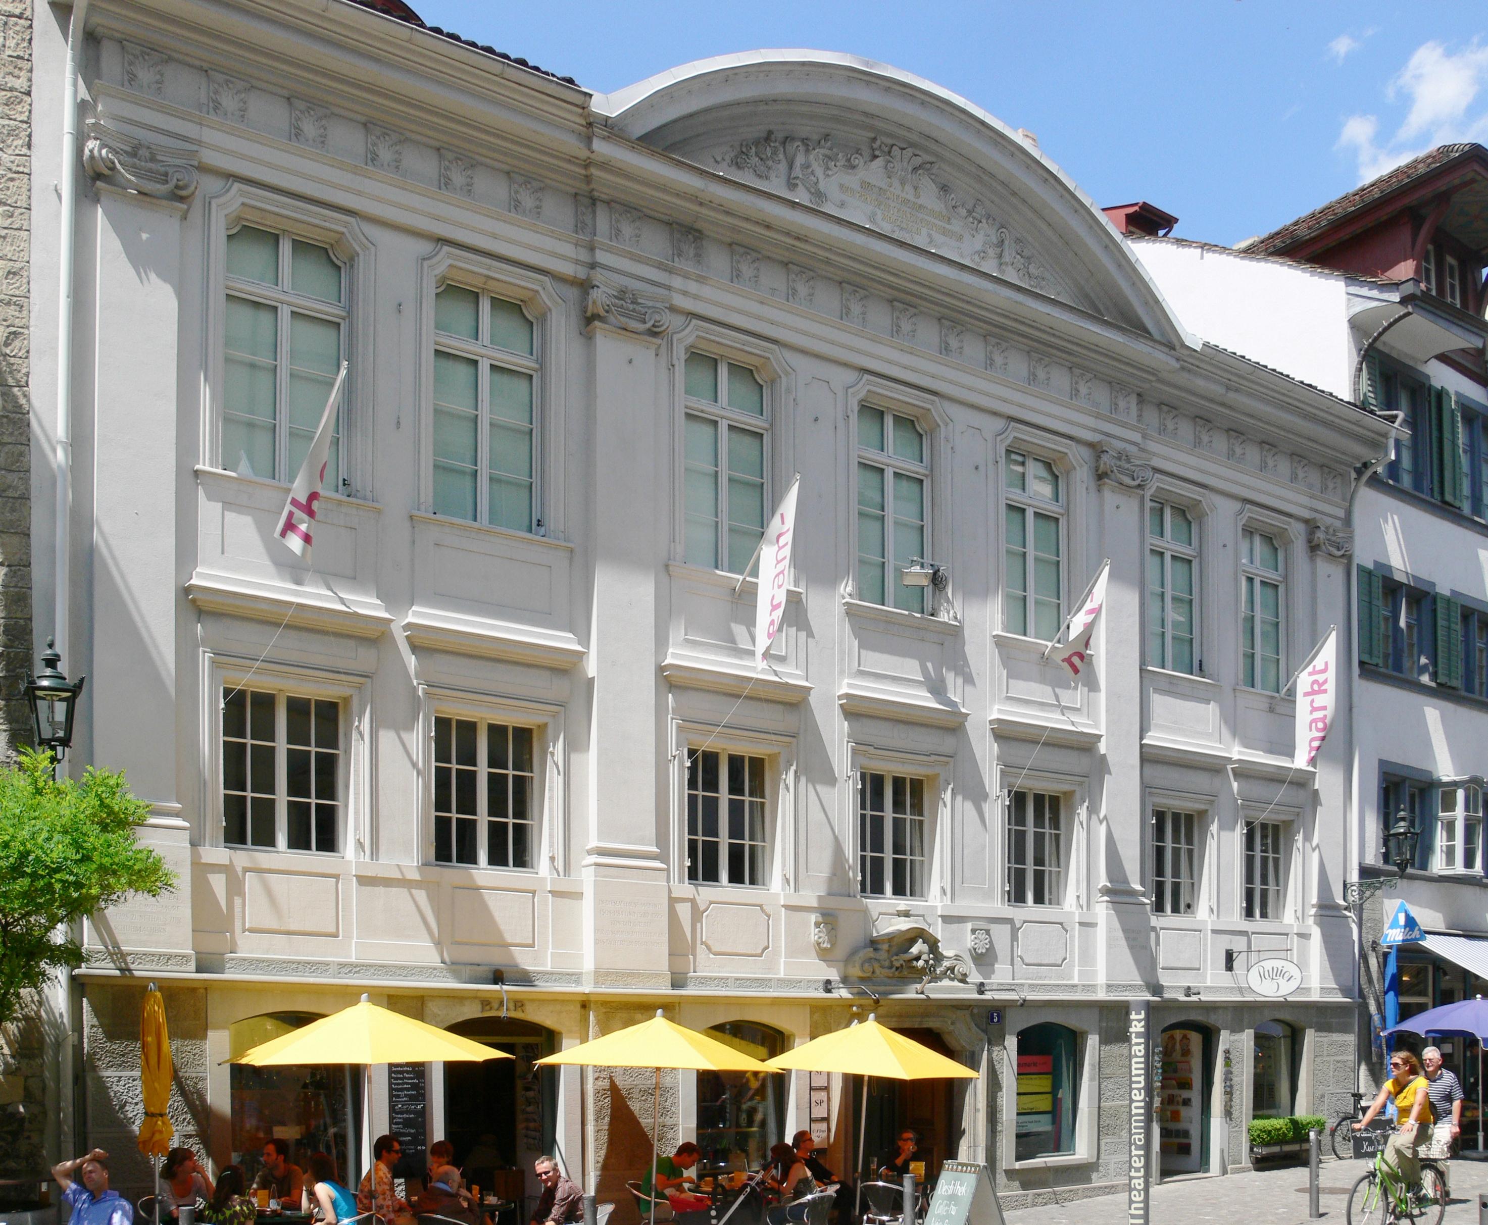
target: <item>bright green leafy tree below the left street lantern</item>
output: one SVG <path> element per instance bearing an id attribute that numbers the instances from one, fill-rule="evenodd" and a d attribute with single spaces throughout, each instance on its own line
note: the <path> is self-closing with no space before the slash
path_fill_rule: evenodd
<path id="1" fill-rule="evenodd" d="M 24 990 L 82 965 L 79 918 L 174 887 L 176 874 L 134 839 L 149 816 L 124 771 L 89 767 L 82 781 L 58 781 L 51 753 L 27 749 L 0 768 L 0 1024 Z"/>

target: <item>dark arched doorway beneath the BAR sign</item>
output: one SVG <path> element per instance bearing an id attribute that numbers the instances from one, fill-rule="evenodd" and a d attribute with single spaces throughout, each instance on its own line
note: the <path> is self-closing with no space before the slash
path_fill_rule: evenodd
<path id="1" fill-rule="evenodd" d="M 473 1017 L 451 1033 L 515 1058 L 445 1064 L 445 1130 L 467 1183 L 501 1198 L 527 1194 L 527 1171 L 552 1155 L 558 1127 L 558 1070 L 537 1067 L 558 1049 L 558 1036 L 531 1021 Z"/>

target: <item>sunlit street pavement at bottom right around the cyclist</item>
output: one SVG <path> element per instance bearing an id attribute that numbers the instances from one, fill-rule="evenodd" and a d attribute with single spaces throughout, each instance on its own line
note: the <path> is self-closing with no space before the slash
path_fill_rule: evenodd
<path id="1" fill-rule="evenodd" d="M 1318 1206 L 1324 1225 L 1342 1225 L 1354 1180 L 1363 1161 L 1324 1161 Z M 1488 1162 L 1454 1161 L 1452 1197 L 1442 1225 L 1476 1225 L 1478 1192 L 1488 1191 Z M 1263 1222 L 1308 1225 L 1306 1167 L 1262 1173 L 1196 1177 L 1162 1183 L 1152 1191 L 1152 1225 L 1208 1225 L 1208 1222 Z M 975 1222 L 973 1225 L 984 1225 Z M 1007 1225 L 1126 1225 L 1126 1197 L 1101 1195 L 1007 1213 Z"/>

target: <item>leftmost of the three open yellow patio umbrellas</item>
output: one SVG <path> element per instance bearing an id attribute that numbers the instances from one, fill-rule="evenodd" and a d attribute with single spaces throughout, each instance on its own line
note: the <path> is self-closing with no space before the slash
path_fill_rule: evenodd
<path id="1" fill-rule="evenodd" d="M 372 1101 L 372 1064 L 375 1063 L 482 1063 L 485 1060 L 509 1060 L 506 1051 L 497 1051 L 449 1033 L 437 1026 L 429 1026 L 402 1012 L 379 1008 L 366 996 L 360 1003 L 321 1017 L 290 1033 L 260 1042 L 229 1063 L 248 1067 L 283 1067 L 286 1064 L 312 1063 L 359 1063 L 363 1066 L 365 1091 L 362 1158 L 371 1167 L 368 1151 L 368 1115 Z M 350 1112 L 351 1103 L 347 1103 Z M 348 1127 L 350 1131 L 350 1127 Z M 350 1149 L 348 1149 L 350 1152 Z M 360 1176 L 360 1171 L 359 1171 Z"/>

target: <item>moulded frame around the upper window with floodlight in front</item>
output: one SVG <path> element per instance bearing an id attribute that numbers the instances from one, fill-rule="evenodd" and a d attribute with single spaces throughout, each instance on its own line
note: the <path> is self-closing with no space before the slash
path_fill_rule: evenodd
<path id="1" fill-rule="evenodd" d="M 949 557 L 936 557 L 934 551 L 939 548 L 940 531 L 937 524 L 946 522 L 946 515 L 949 514 L 949 426 L 951 418 L 946 415 L 940 405 L 939 397 L 926 394 L 912 387 L 905 387 L 897 383 L 891 383 L 887 378 L 879 378 L 878 375 L 865 374 L 847 388 L 847 438 L 850 445 L 838 448 L 841 455 L 841 488 L 851 490 L 851 496 L 842 499 L 841 515 L 842 515 L 842 536 L 847 540 L 847 585 L 844 588 L 845 597 L 848 600 L 848 609 L 857 604 L 863 609 L 873 609 L 878 613 L 891 618 L 934 618 L 940 607 L 937 601 L 930 597 L 926 598 L 926 612 L 917 613 L 897 607 L 893 600 L 879 604 L 876 601 L 863 600 L 862 592 L 857 585 L 857 461 L 859 461 L 859 447 L 857 447 L 857 414 L 863 405 L 869 408 L 876 408 L 882 412 L 899 412 L 906 417 L 914 417 L 918 423 L 921 432 L 926 438 L 926 560 L 936 561 L 937 564 L 948 566 Z M 891 569 L 891 566 L 885 566 Z M 890 580 L 902 582 L 902 575 L 890 575 Z M 933 589 L 933 588 L 931 588 Z M 943 606 L 942 606 L 943 607 Z M 854 793 L 854 807 L 856 807 Z M 854 869 L 856 877 L 856 869 Z"/>

